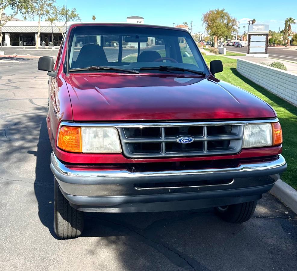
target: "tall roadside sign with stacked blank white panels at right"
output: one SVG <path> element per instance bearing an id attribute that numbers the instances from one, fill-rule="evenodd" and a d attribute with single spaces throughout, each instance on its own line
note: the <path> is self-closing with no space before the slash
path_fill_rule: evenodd
<path id="1" fill-rule="evenodd" d="M 251 24 L 248 29 L 247 56 L 267 57 L 268 24 Z"/>

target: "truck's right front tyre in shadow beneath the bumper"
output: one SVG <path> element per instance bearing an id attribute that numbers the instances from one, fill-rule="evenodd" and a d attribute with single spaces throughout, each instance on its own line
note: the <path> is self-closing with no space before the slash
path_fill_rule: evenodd
<path id="1" fill-rule="evenodd" d="M 227 206 L 215 207 L 216 213 L 230 223 L 242 223 L 248 221 L 255 212 L 257 201 L 249 201 Z"/>

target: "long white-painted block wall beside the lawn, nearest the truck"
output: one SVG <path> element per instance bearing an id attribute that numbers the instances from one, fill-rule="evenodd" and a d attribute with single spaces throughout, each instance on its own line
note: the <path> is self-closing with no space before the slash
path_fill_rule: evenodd
<path id="1" fill-rule="evenodd" d="M 259 86 L 297 106 L 297 74 L 237 59 L 237 71 Z"/>

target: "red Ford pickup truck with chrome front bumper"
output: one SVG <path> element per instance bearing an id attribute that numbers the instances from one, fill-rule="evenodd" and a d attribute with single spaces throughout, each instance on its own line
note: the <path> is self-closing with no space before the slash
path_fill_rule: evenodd
<path id="1" fill-rule="evenodd" d="M 182 29 L 69 26 L 48 71 L 54 229 L 83 231 L 84 212 L 215 207 L 242 223 L 286 170 L 273 108 L 215 77 Z"/>

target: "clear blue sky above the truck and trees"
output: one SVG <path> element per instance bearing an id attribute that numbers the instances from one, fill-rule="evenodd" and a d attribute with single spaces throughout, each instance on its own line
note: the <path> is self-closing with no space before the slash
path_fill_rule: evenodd
<path id="1" fill-rule="evenodd" d="M 64 5 L 65 1 L 56 0 L 58 5 Z M 289 7 L 289 8 L 288 8 Z M 193 21 L 193 31 L 203 32 L 202 14 L 210 9 L 225 8 L 227 12 L 237 20 L 240 20 L 240 33 L 243 25 L 255 18 L 257 23 L 267 23 L 271 30 L 282 30 L 286 17 L 297 19 L 297 1 L 279 0 L 261 1 L 181 1 L 181 0 L 68 0 L 67 8 L 77 8 L 82 21 L 91 21 L 92 15 L 98 22 L 125 22 L 128 16 L 144 17 L 146 24 L 158 24 L 173 26 Z M 17 17 L 20 17 L 18 15 Z M 247 28 L 246 28 L 247 30 Z M 297 25 L 292 26 L 297 31 Z"/>

